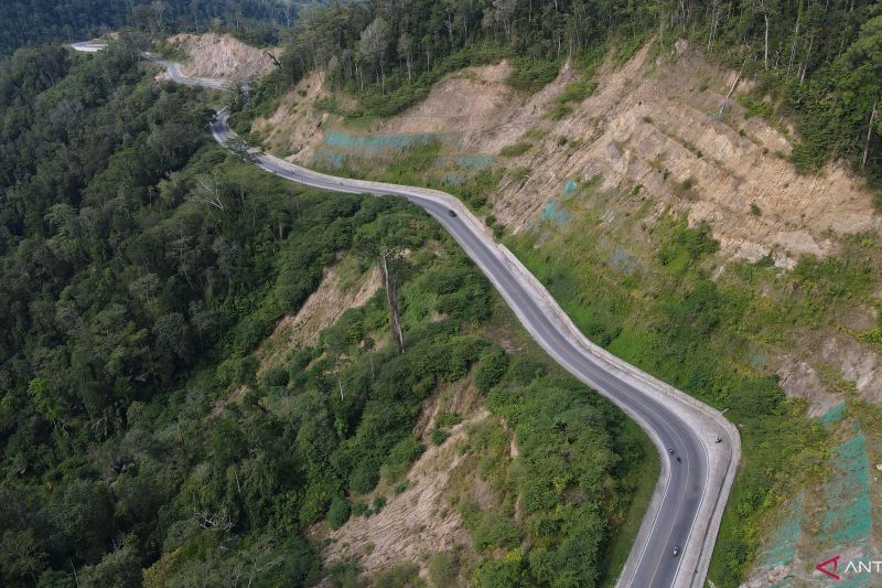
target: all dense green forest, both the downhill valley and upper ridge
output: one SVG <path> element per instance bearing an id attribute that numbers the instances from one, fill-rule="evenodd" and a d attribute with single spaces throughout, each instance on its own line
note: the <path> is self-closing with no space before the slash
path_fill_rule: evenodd
<path id="1" fill-rule="evenodd" d="M 25 47 L 119 28 L 98 55 Z M 318 68 L 348 99 L 316 106 L 369 121 L 507 57 L 524 93 L 570 61 L 580 77 L 566 109 L 594 92 L 601 64 L 687 39 L 756 81 L 741 98 L 750 113 L 794 124 L 800 172 L 845 159 L 871 183 L 882 175 L 878 2 L 83 0 L 3 3 L 0 29 L 4 586 L 417 582 L 410 568 L 324 568 L 311 532 L 372 516 L 385 499 L 364 496 L 406 487 L 426 450 L 412 434 L 423 403 L 465 379 L 510 429 L 472 441 L 502 503 L 451 504 L 475 550 L 430 580 L 593 586 L 615 574 L 606 556 L 646 464 L 633 427 L 541 354 L 493 340 L 490 325 L 512 317 L 426 215 L 254 169 L 207 132 L 222 104 L 246 131 Z M 206 30 L 282 45 L 278 67 L 232 100 L 151 79 L 141 50 Z M 341 256 L 390 261 L 404 351 L 381 289 L 315 345 L 260 365 L 256 350 Z M 517 468 L 498 458 L 506 435 Z M 736 582 L 751 553 L 728 545 Z"/>

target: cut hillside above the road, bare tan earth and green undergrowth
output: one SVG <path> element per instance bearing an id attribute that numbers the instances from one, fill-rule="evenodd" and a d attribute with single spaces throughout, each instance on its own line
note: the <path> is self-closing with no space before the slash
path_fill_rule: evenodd
<path id="1" fill-rule="evenodd" d="M 797 173 L 787 120 L 750 116 L 753 82 L 685 41 L 607 60 L 576 101 L 569 64 L 531 95 L 512 72 L 469 67 L 401 115 L 354 120 L 319 107 L 352 98 L 313 74 L 255 136 L 305 164 L 460 195 L 592 339 L 731 409 L 750 462 L 733 500 L 753 514 L 724 521 L 720 549 L 752 554 L 752 581 L 808 578 L 831 546 L 872 553 L 870 510 L 852 513 L 854 536 L 818 534 L 851 515 L 825 520 L 838 490 L 809 466 L 879 460 L 875 421 L 856 417 L 882 404 L 872 191 L 839 162 Z M 876 491 L 854 475 L 849 492 Z M 716 556 L 711 578 L 731 584 L 733 562 Z"/>

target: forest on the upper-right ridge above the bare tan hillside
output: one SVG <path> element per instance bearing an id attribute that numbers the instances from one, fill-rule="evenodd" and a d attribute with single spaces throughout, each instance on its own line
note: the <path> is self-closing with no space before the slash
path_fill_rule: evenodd
<path id="1" fill-rule="evenodd" d="M 509 82 L 535 90 L 567 58 L 590 78 L 611 46 L 621 63 L 650 38 L 663 51 L 687 38 L 757 79 L 752 114 L 796 124 L 799 170 L 843 158 L 882 177 L 882 8 L 875 1 L 340 2 L 298 24 L 282 67 L 258 95 L 265 108 L 313 68 L 357 97 L 358 107 L 343 114 L 389 116 L 426 96 L 444 73 L 470 64 L 513 57 Z M 579 96 L 592 88 L 587 84 Z"/>

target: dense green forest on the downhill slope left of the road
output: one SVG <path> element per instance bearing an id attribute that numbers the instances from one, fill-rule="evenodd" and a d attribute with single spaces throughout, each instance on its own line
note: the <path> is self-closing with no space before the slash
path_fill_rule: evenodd
<path id="1" fill-rule="evenodd" d="M 611 573 L 645 459 L 633 426 L 487 338 L 501 302 L 427 215 L 240 161 L 211 140 L 201 90 L 151 82 L 139 49 L 28 49 L 0 67 L 0 584 L 313 584 L 304 530 L 380 509 L 351 496 L 407 483 L 423 400 L 465 377 L 524 457 L 487 458 L 504 501 L 462 501 L 475 550 L 444 577 Z M 254 351 L 346 252 L 387 257 L 404 351 L 380 291 L 258 375 Z M 507 453 L 494 430 L 475 451 Z M 358 584 L 353 566 L 326 573 Z"/>

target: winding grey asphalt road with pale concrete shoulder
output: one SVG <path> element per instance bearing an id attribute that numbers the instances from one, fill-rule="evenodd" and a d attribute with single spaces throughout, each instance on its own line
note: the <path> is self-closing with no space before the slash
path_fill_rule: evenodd
<path id="1" fill-rule="evenodd" d="M 149 54 L 144 57 L 164 66 L 178 83 L 215 89 L 227 86 L 219 81 L 187 77 L 178 64 Z M 218 113 L 211 128 L 222 145 L 235 138 L 224 111 Z M 490 278 L 539 345 L 567 371 L 634 418 L 658 448 L 662 473 L 617 586 L 703 585 L 741 455 L 735 427 L 718 410 L 590 342 L 546 288 L 452 195 L 337 178 L 273 156 L 257 151 L 255 154 L 260 168 L 292 182 L 333 192 L 405 197 L 435 218 Z M 675 547 L 679 548 L 678 556 L 674 555 Z"/>

